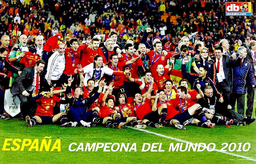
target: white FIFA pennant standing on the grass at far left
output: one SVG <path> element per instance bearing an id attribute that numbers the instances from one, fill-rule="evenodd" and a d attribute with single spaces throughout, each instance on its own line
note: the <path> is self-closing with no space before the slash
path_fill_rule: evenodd
<path id="1" fill-rule="evenodd" d="M 20 99 L 15 96 L 12 97 L 10 89 L 5 90 L 4 94 L 4 110 L 12 117 L 20 113 Z"/>

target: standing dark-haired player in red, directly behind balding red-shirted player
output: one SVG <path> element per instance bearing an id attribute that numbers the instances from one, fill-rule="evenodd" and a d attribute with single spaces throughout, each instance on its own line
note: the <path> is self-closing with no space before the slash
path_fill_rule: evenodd
<path id="1" fill-rule="evenodd" d="M 162 55 L 162 43 L 156 41 L 154 43 L 154 51 L 151 50 L 147 54 L 150 59 L 150 71 L 152 72 L 152 77 L 155 78 L 157 75 L 156 67 L 158 64 L 162 64 L 164 67 L 167 65 L 167 60 L 172 57 L 172 53 L 168 52 L 167 55 Z"/>

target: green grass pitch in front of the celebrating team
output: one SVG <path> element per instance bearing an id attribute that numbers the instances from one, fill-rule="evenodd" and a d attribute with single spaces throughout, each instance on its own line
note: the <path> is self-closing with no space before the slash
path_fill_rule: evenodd
<path id="1" fill-rule="evenodd" d="M 255 108 L 256 102 L 254 102 Z M 254 111 L 255 114 L 255 111 Z M 253 116 L 255 117 L 255 115 Z M 216 148 L 220 150 L 224 146 L 222 143 L 227 142 L 228 146 L 231 143 L 236 144 L 236 149 L 232 152 L 228 151 L 228 147 L 225 149 L 228 153 L 224 154 L 222 152 L 212 151 L 208 152 L 204 150 L 202 152 L 169 152 L 169 145 L 173 143 L 182 143 L 179 140 L 173 140 L 170 138 L 165 138 L 163 136 L 158 136 L 156 134 L 150 134 L 148 132 L 135 130 L 133 128 L 124 127 L 123 129 L 107 129 L 102 126 L 94 128 L 76 127 L 76 128 L 61 128 L 58 125 L 35 125 L 32 128 L 26 126 L 26 122 L 18 121 L 18 119 L 11 120 L 0 120 L 0 164 L 47 164 L 47 163 L 88 163 L 88 164 L 169 164 L 169 163 L 241 163 L 241 164 L 252 164 L 256 162 L 256 123 L 246 125 L 246 126 L 234 126 L 227 128 L 226 126 L 216 126 L 213 129 L 210 128 L 200 128 L 196 126 L 187 126 L 186 130 L 176 130 L 172 127 L 166 128 L 146 128 L 150 132 L 155 132 L 157 134 L 162 134 L 164 136 L 169 136 L 177 138 L 180 140 L 192 142 L 192 143 L 205 143 L 206 145 L 213 142 L 216 144 Z M 39 148 L 41 141 L 45 136 L 51 136 L 52 148 L 53 143 L 60 139 L 60 152 L 55 149 L 54 151 L 36 151 L 32 149 L 28 151 L 30 146 L 26 146 L 23 151 L 19 148 L 18 151 L 4 151 L 3 144 L 6 138 L 20 138 L 21 140 L 34 139 L 39 140 Z M 72 149 L 76 149 L 80 142 L 84 143 L 84 148 L 86 143 L 90 144 L 96 143 L 136 143 L 136 152 L 132 150 L 131 152 L 126 152 L 124 149 L 120 152 L 104 152 L 103 148 L 99 148 L 98 151 L 81 151 L 70 152 L 68 147 L 71 143 L 77 143 L 77 146 L 72 146 Z M 242 143 L 242 146 L 248 142 L 250 143 L 250 149 L 248 151 L 238 152 L 238 143 Z M 6 148 L 15 147 L 12 142 L 10 146 Z M 162 143 L 161 150 L 164 152 L 142 152 L 143 143 Z M 19 144 L 22 146 L 22 143 Z M 111 146 L 111 145 L 110 145 Z M 115 146 L 116 147 L 116 146 Z M 114 147 L 114 148 L 115 148 Z M 147 146 L 146 146 L 147 148 Z M 182 147 L 183 149 L 185 146 Z M 230 146 L 234 148 L 234 144 Z M 247 146 L 245 146 L 247 148 Z M 110 150 L 108 148 L 107 150 Z M 154 148 L 158 150 L 158 148 Z M 246 158 L 237 157 L 235 155 L 245 156 L 252 160 Z M 254 161 L 253 161 L 254 160 Z"/>

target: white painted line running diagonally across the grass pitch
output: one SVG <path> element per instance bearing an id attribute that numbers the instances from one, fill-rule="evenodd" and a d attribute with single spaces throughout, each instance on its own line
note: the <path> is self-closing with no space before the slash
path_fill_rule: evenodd
<path id="1" fill-rule="evenodd" d="M 151 131 L 144 130 L 144 129 L 136 129 L 136 128 L 131 127 L 131 126 L 127 126 L 127 127 L 128 127 L 128 128 L 132 128 L 132 129 L 135 129 L 135 130 L 140 130 L 140 131 L 142 131 L 142 132 L 147 132 L 147 133 L 150 133 L 150 134 L 154 134 L 154 135 L 157 135 L 157 136 L 161 136 L 161 137 L 164 137 L 164 138 L 168 138 L 168 139 L 171 139 L 171 140 L 176 140 L 177 142 L 183 142 L 183 143 L 188 143 L 188 144 L 191 143 L 191 144 L 193 144 L 194 146 L 196 145 L 196 144 L 194 144 L 194 143 L 192 143 L 192 142 L 188 142 L 188 141 L 186 141 L 186 140 L 181 140 L 181 139 L 178 139 L 178 138 L 173 138 L 173 137 L 171 137 L 171 136 L 165 136 L 165 135 L 163 135 L 163 134 L 158 134 L 158 133 L 151 132 Z M 203 146 L 200 146 L 200 147 L 203 148 Z M 256 162 L 255 159 L 249 158 L 249 157 L 247 157 L 247 156 L 241 156 L 241 155 L 233 154 L 233 153 L 230 153 L 230 152 L 222 152 L 222 151 L 220 151 L 220 150 L 218 150 L 218 149 L 214 149 L 214 151 L 216 151 L 216 152 L 221 152 L 221 153 L 224 153 L 224 154 L 228 154 L 228 155 L 230 155 L 230 156 L 236 156 L 236 157 L 239 157 L 239 158 L 244 158 L 244 159 L 247 159 L 247 160 L 251 160 L 251 161 Z"/>

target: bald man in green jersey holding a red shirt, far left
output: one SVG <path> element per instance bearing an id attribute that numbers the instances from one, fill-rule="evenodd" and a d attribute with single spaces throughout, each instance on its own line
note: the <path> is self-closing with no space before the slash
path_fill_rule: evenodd
<path id="1" fill-rule="evenodd" d="M 28 47 L 27 47 L 28 37 L 26 35 L 21 35 L 19 41 L 20 43 L 18 45 L 18 48 L 13 47 L 8 57 L 9 57 L 9 61 L 13 63 L 14 67 L 22 71 L 24 69 L 24 64 L 20 63 L 20 58 L 24 57 L 25 55 L 24 52 L 28 52 Z M 12 82 L 14 82 L 17 77 L 18 77 L 18 74 L 14 73 Z"/>

